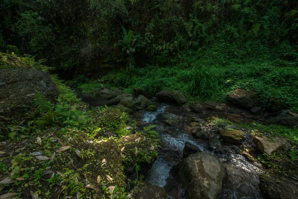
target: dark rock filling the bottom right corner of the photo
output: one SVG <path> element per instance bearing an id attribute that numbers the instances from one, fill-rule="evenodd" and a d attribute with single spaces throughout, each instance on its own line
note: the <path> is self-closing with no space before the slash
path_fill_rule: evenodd
<path id="1" fill-rule="evenodd" d="M 298 181 L 276 175 L 260 176 L 260 188 L 266 199 L 297 199 Z"/>

